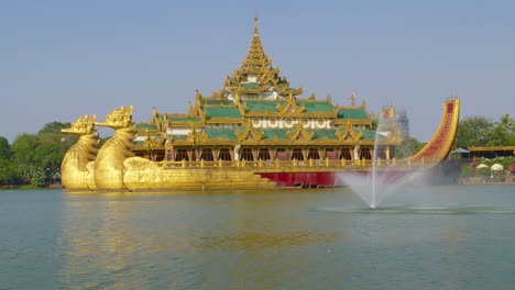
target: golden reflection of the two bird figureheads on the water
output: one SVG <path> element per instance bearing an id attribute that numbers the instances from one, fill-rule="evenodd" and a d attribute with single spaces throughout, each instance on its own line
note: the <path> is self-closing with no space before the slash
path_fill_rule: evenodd
<path id="1" fill-rule="evenodd" d="M 138 212 L 134 203 L 111 199 L 123 197 L 121 192 L 102 199 L 80 197 L 65 203 L 62 280 L 78 289 L 143 287 L 138 277 L 145 272 L 131 265 L 139 253 L 150 250 L 154 237 L 131 226 Z"/>

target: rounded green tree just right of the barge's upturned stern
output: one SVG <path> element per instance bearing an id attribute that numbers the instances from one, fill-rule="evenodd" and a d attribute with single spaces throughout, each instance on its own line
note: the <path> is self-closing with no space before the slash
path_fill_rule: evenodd
<path id="1" fill-rule="evenodd" d="M 494 123 L 484 116 L 469 116 L 460 121 L 454 146 L 461 148 L 487 146 Z"/>

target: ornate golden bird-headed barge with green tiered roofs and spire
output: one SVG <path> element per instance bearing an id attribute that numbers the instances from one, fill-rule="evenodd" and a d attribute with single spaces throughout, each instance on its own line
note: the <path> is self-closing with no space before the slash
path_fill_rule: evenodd
<path id="1" fill-rule="evenodd" d="M 403 133 L 395 108 L 379 116 L 331 94 L 303 98 L 264 52 L 254 19 L 249 52 L 240 68 L 211 96 L 196 91 L 187 113 L 160 112 L 134 123 L 133 107 L 112 110 L 103 121 L 77 119 L 65 133 L 79 135 L 62 164 L 67 191 L 219 190 L 344 186 L 340 172 L 402 175 L 432 168 L 456 138 L 460 100 L 443 102 L 440 125 L 418 153 L 396 158 Z M 100 148 L 96 126 L 114 134 Z"/>

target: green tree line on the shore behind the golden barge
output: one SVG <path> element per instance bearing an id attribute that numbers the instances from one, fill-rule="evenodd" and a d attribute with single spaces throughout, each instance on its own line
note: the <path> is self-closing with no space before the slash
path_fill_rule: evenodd
<path id="1" fill-rule="evenodd" d="M 20 134 L 12 144 L 0 136 L 0 186 L 47 186 L 61 178 L 61 163 L 78 136 L 63 134 L 69 123 L 53 122 L 36 134 Z M 416 153 L 424 144 L 406 137 L 397 158 Z M 468 116 L 460 121 L 454 147 L 515 146 L 515 120 L 503 114 L 498 121 Z"/>

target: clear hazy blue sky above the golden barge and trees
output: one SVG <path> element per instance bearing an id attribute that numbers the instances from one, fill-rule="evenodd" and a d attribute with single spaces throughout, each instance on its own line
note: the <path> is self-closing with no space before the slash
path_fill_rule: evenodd
<path id="1" fill-rule="evenodd" d="M 120 105 L 187 112 L 239 68 L 255 15 L 305 98 L 404 109 L 420 142 L 452 94 L 461 118 L 515 118 L 515 1 L 18 0 L 0 1 L 0 136 Z"/>

